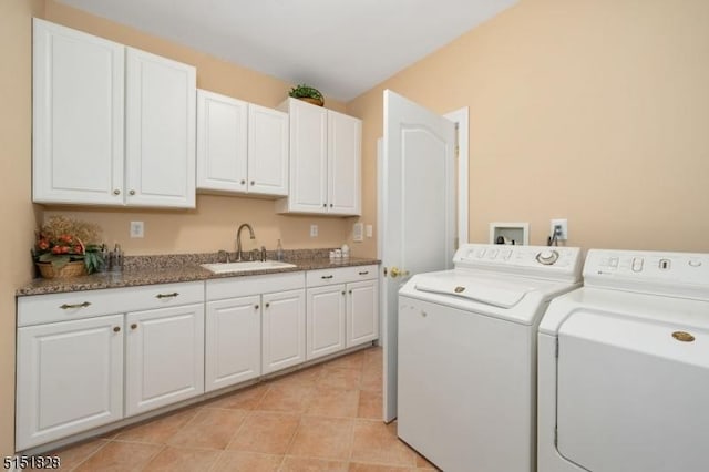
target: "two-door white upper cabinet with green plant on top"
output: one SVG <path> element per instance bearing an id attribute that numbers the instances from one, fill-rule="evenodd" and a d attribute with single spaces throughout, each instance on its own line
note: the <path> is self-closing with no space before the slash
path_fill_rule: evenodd
<path id="1" fill-rule="evenodd" d="M 290 121 L 290 192 L 278 213 L 361 214 L 361 121 L 297 99 Z"/>

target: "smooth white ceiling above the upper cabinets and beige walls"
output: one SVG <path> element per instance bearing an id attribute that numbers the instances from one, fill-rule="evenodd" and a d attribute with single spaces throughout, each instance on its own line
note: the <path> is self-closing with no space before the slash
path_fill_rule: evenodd
<path id="1" fill-rule="evenodd" d="M 349 101 L 517 0 L 58 0 Z"/>

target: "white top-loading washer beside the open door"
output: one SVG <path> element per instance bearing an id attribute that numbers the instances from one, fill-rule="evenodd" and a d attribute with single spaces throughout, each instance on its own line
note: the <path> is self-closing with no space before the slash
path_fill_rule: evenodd
<path id="1" fill-rule="evenodd" d="M 399 291 L 399 437 L 446 472 L 533 471 L 536 335 L 578 248 L 465 245 Z"/>

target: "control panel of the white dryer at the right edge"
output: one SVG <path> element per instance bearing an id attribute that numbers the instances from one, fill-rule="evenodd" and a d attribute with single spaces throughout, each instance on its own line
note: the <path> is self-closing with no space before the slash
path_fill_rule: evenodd
<path id="1" fill-rule="evenodd" d="M 584 285 L 709 299 L 709 254 L 590 249 Z"/>

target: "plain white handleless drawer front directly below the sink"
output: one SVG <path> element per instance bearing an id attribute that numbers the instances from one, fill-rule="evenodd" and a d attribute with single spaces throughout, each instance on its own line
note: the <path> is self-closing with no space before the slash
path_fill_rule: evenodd
<path id="1" fill-rule="evenodd" d="M 248 295 L 304 288 L 305 273 L 266 274 L 260 276 L 212 279 L 206 283 L 207 300 L 246 297 Z"/>

